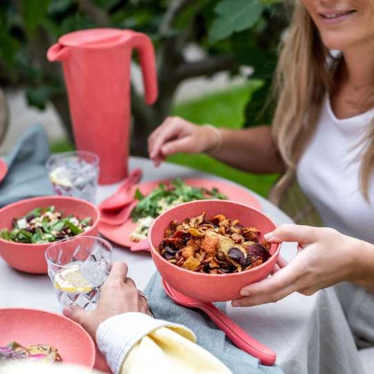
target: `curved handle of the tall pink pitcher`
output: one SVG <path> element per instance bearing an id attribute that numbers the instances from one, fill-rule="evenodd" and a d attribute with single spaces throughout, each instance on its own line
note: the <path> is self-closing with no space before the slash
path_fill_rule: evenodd
<path id="1" fill-rule="evenodd" d="M 130 42 L 132 48 L 139 52 L 139 60 L 143 73 L 143 86 L 145 91 L 145 102 L 148 105 L 157 100 L 157 72 L 154 57 L 154 48 L 151 39 L 143 33 L 132 33 Z"/>

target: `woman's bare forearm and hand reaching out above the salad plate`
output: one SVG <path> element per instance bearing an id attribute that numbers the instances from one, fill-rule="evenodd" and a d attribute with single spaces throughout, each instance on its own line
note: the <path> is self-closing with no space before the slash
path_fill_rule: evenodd
<path id="1" fill-rule="evenodd" d="M 156 166 L 177 152 L 206 152 L 219 161 L 249 172 L 284 170 L 271 137 L 271 128 L 266 125 L 229 130 L 168 117 L 148 138 L 148 152 Z"/>

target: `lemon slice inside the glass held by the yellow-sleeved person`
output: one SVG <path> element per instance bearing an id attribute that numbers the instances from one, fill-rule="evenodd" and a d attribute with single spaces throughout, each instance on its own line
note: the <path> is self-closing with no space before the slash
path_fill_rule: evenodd
<path id="1" fill-rule="evenodd" d="M 82 276 L 78 266 L 60 270 L 55 276 L 55 288 L 69 294 L 82 294 L 92 290 L 89 281 Z"/>

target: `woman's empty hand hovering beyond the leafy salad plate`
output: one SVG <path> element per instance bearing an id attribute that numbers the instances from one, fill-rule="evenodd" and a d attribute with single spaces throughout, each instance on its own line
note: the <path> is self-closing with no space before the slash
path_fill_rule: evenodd
<path id="1" fill-rule="evenodd" d="M 156 166 L 170 154 L 199 153 L 214 148 L 220 133 L 209 126 L 199 126 L 180 117 L 168 117 L 148 138 L 148 153 Z"/>

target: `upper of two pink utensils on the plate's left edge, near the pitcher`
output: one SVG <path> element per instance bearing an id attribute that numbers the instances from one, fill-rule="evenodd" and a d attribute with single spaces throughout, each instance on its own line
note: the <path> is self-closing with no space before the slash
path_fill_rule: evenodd
<path id="1" fill-rule="evenodd" d="M 143 176 L 143 172 L 141 169 L 135 169 L 132 173 L 123 181 L 123 184 L 116 190 L 116 192 L 112 195 L 107 197 L 101 204 L 99 205 L 100 211 L 118 211 L 119 209 L 123 208 L 123 206 L 130 204 L 134 200 L 134 190 L 132 186 L 137 184 L 141 177 Z"/>

